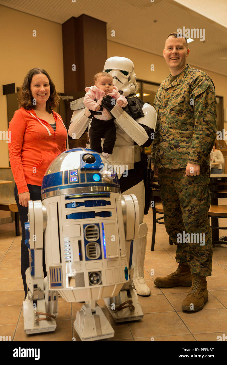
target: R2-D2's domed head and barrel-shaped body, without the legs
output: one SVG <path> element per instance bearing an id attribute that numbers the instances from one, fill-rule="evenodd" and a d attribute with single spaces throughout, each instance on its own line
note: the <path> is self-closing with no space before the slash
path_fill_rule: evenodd
<path id="1" fill-rule="evenodd" d="M 120 185 L 106 162 L 95 151 L 67 150 L 43 178 L 48 290 L 66 301 L 113 297 L 129 280 Z"/>

